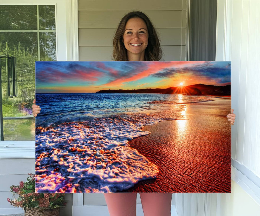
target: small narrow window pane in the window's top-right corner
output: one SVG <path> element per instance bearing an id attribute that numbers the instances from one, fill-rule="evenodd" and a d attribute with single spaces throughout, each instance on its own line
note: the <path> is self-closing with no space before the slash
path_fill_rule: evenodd
<path id="1" fill-rule="evenodd" d="M 39 29 L 55 30 L 55 5 L 39 5 Z"/>

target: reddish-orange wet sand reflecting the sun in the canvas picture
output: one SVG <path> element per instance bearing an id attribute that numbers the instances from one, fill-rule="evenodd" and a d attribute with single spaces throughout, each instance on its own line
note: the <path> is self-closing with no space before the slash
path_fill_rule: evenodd
<path id="1" fill-rule="evenodd" d="M 159 174 L 122 192 L 231 193 L 231 99 L 214 100 L 187 104 L 188 120 L 145 126 L 151 134 L 129 141 Z"/>

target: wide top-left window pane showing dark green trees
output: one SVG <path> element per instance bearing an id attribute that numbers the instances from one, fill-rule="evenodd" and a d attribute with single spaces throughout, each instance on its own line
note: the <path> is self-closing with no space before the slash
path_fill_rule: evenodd
<path id="1" fill-rule="evenodd" d="M 36 29 L 36 5 L 1 5 L 0 29 Z"/>

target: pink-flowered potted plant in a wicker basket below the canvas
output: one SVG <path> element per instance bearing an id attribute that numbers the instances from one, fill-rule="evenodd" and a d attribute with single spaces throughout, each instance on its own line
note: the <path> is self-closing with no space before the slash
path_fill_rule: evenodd
<path id="1" fill-rule="evenodd" d="M 20 181 L 20 185 L 10 186 L 12 200 L 7 198 L 10 205 L 21 207 L 24 216 L 59 216 L 60 207 L 65 207 L 64 194 L 35 193 L 35 175 L 28 173 L 27 181 Z M 18 198 L 14 198 L 14 196 Z"/>

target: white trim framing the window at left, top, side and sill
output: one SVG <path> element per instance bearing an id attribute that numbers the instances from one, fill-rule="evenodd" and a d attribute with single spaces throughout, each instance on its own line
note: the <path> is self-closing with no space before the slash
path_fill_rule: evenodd
<path id="1" fill-rule="evenodd" d="M 1 0 L 0 5 L 55 5 L 57 61 L 79 61 L 77 0 Z M 35 141 L 1 141 L 1 158 L 35 158 Z"/>

